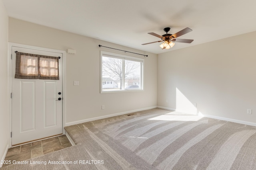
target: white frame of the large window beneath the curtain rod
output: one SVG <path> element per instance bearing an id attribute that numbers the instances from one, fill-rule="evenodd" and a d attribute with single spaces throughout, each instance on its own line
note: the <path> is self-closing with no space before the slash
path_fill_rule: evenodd
<path id="1" fill-rule="evenodd" d="M 132 90 L 124 90 L 124 84 L 125 84 L 125 78 L 122 79 L 122 90 L 108 90 L 108 91 L 103 91 L 102 90 L 102 56 L 106 57 L 113 57 L 116 59 L 127 59 L 127 60 L 132 60 L 132 61 L 137 61 L 140 62 L 140 89 L 132 89 Z M 123 62 L 124 64 L 124 62 Z M 124 66 L 123 66 L 124 69 Z M 124 71 L 123 71 L 124 72 Z M 128 55 L 121 55 L 121 54 L 116 54 L 116 53 L 110 53 L 106 51 L 100 51 L 100 93 L 115 93 L 115 92 L 141 92 L 144 91 L 144 59 L 138 58 L 138 57 L 132 57 Z M 124 76 L 123 76 L 124 77 Z"/>

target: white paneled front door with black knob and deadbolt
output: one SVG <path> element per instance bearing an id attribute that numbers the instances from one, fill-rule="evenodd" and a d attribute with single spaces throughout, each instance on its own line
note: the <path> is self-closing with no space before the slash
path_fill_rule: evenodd
<path id="1" fill-rule="evenodd" d="M 39 49 L 12 46 L 12 145 L 62 134 L 62 56 Z M 60 80 L 18 79 L 16 53 L 61 57 Z"/>

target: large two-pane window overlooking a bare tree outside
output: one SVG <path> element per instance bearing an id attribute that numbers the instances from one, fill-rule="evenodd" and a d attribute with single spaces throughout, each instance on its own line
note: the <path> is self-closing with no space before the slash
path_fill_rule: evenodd
<path id="1" fill-rule="evenodd" d="M 143 64 L 141 58 L 101 51 L 101 92 L 143 90 Z"/>

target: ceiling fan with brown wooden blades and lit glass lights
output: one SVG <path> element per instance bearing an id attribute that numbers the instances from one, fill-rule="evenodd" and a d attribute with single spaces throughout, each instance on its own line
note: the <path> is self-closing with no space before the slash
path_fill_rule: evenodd
<path id="1" fill-rule="evenodd" d="M 184 35 L 186 33 L 189 33 L 190 31 L 192 31 L 192 29 L 190 28 L 185 28 L 185 29 L 182 29 L 181 31 L 175 33 L 175 34 L 168 34 L 168 31 L 170 31 L 170 27 L 166 27 L 164 28 L 164 32 L 166 32 L 166 34 L 164 35 L 158 35 L 156 33 L 148 33 L 150 35 L 154 35 L 158 38 L 160 38 L 161 40 L 160 41 L 154 41 L 154 42 L 151 42 L 151 43 L 157 43 L 157 42 L 162 42 L 164 41 L 160 47 L 162 49 L 170 49 L 171 47 L 173 47 L 175 45 L 175 43 L 192 43 L 192 41 L 194 41 L 194 39 L 176 39 L 177 37 L 180 37 L 181 35 Z M 175 42 L 175 43 L 174 43 Z M 151 44 L 151 43 L 145 43 L 145 44 L 142 44 L 142 45 L 147 45 L 147 44 Z"/>

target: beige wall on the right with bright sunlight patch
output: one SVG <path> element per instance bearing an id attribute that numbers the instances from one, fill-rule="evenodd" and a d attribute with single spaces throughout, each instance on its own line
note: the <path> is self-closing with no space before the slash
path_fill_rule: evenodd
<path id="1" fill-rule="evenodd" d="M 158 106 L 193 111 L 196 103 L 198 113 L 256 123 L 255 38 L 246 33 L 158 55 Z"/>

